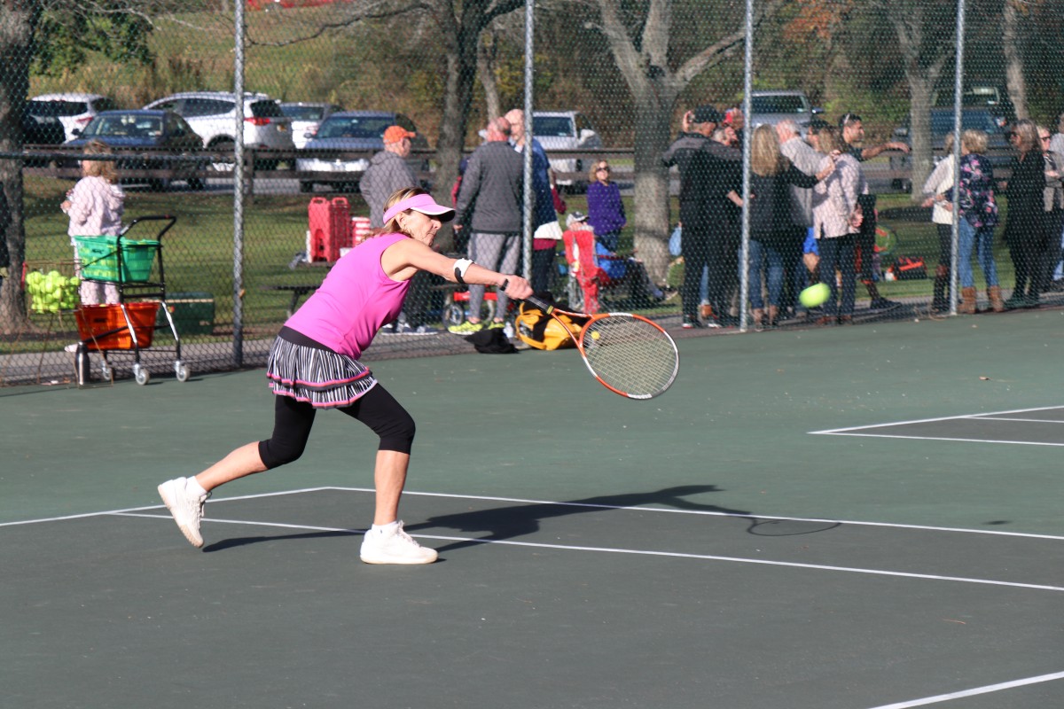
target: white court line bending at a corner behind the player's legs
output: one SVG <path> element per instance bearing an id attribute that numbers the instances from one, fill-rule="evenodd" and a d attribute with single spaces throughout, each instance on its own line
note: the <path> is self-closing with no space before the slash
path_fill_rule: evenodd
<path id="1" fill-rule="evenodd" d="M 260 492 L 255 494 L 246 495 L 233 495 L 232 497 L 215 497 L 214 500 L 209 500 L 207 505 L 215 505 L 222 502 L 232 502 L 239 500 L 255 500 L 257 497 L 277 497 L 289 494 L 302 494 L 304 492 L 329 492 L 333 490 L 338 490 L 340 492 L 366 492 L 372 493 L 375 490 L 372 488 L 351 488 L 342 486 L 322 486 L 316 488 L 301 488 L 295 490 L 286 490 L 281 492 Z M 997 537 L 1019 537 L 1023 539 L 1050 539 L 1057 541 L 1064 541 L 1064 536 L 1059 535 L 1036 535 L 1026 531 L 1007 531 L 1002 529 L 968 529 L 964 527 L 936 527 L 930 525 L 921 524 L 899 524 L 894 522 L 863 522 L 854 520 L 828 520 L 821 518 L 807 518 L 807 517 L 776 517 L 766 514 L 739 514 L 736 512 L 714 512 L 705 509 L 676 509 L 671 507 L 633 507 L 626 505 L 602 505 L 598 503 L 585 503 L 585 502 L 559 502 L 554 500 L 533 500 L 528 497 L 498 497 L 492 495 L 464 495 L 464 494 L 453 494 L 447 492 L 417 492 L 413 490 L 403 491 L 404 495 L 416 495 L 422 497 L 446 497 L 451 500 L 479 500 L 485 502 L 505 502 L 505 503 L 519 503 L 522 505 L 554 505 L 559 507 L 584 507 L 589 509 L 618 509 L 618 510 L 629 510 L 636 512 L 661 512 L 666 514 L 697 514 L 704 517 L 722 517 L 732 518 L 739 520 L 761 520 L 761 521 L 776 521 L 776 522 L 813 522 L 820 524 L 838 524 L 838 525 L 852 525 L 852 526 L 865 526 L 865 527 L 883 527 L 887 529 L 918 529 L 921 531 L 949 531 L 958 534 L 968 534 L 968 535 L 991 535 Z M 131 516 L 130 512 L 139 512 L 144 510 L 151 509 L 163 509 L 163 505 L 147 505 L 145 507 L 130 507 L 127 509 L 113 509 L 101 512 L 86 512 L 84 514 L 68 514 L 65 517 L 50 517 L 36 520 L 22 520 L 19 522 L 0 522 L 0 527 L 5 526 L 17 526 L 21 524 L 40 524 L 43 522 L 62 522 L 65 520 L 79 520 L 90 517 L 106 517 L 106 516 Z"/>

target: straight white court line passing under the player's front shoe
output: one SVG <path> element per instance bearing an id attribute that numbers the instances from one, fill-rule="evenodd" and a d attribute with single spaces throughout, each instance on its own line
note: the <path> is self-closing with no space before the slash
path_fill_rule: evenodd
<path id="1" fill-rule="evenodd" d="M 168 514 L 117 513 L 117 517 L 137 517 L 170 521 Z M 307 531 L 338 531 L 347 534 L 363 534 L 365 529 L 354 530 L 346 527 L 319 527 L 302 524 L 284 524 L 275 522 L 249 522 L 247 520 L 218 520 L 211 518 L 211 523 L 242 524 L 257 527 L 279 527 L 282 529 L 305 529 Z M 506 546 L 527 546 L 532 548 L 551 548 L 568 552 L 598 552 L 604 554 L 631 554 L 634 556 L 656 556 L 671 559 L 699 559 L 702 561 L 731 561 L 734 563 L 752 563 L 766 567 L 786 567 L 789 569 L 805 569 L 812 571 L 834 571 L 849 574 L 868 574 L 872 576 L 893 576 L 897 578 L 918 578 L 934 581 L 957 581 L 961 584 L 981 584 L 985 586 L 1002 586 L 1034 591 L 1064 592 L 1064 587 L 1044 586 L 1041 584 L 1019 584 L 1016 581 L 999 581 L 987 578 L 966 578 L 964 576 L 938 576 L 936 574 L 914 574 L 903 571 L 885 571 L 882 569 L 860 569 L 855 567 L 832 567 L 820 563 L 798 563 L 795 561 L 772 561 L 769 559 L 749 559 L 735 556 L 717 556 L 714 554 L 684 554 L 681 552 L 656 552 L 651 550 L 618 548 L 611 546 L 579 546 L 572 544 L 546 544 L 543 542 L 521 542 L 511 539 L 477 539 L 476 537 L 451 537 L 445 535 L 411 535 L 418 539 L 435 539 L 438 541 L 475 542 L 478 544 L 503 544 Z"/>

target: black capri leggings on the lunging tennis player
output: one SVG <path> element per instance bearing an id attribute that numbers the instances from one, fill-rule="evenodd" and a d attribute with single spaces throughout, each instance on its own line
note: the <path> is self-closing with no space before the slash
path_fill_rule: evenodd
<path id="1" fill-rule="evenodd" d="M 297 460 L 306 449 L 317 409 L 292 396 L 273 396 L 273 435 L 259 441 L 259 456 L 267 470 Z M 387 389 L 378 384 L 350 406 L 336 410 L 369 426 L 380 436 L 378 451 L 410 454 L 414 444 L 414 419 Z"/>

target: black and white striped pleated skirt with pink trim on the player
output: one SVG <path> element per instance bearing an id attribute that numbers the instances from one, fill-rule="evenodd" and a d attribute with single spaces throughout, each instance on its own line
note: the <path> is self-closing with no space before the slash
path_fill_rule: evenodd
<path id="1" fill-rule="evenodd" d="M 348 406 L 377 384 L 373 373 L 358 359 L 283 337 L 273 340 L 266 378 L 275 394 L 315 408 Z"/>

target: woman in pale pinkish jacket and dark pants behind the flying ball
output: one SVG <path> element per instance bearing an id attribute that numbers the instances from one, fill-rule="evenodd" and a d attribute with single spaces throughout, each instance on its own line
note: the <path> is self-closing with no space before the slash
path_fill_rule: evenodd
<path id="1" fill-rule="evenodd" d="M 820 254 L 820 282 L 831 289 L 831 297 L 824 304 L 824 317 L 817 322 L 852 324 L 857 294 L 854 244 L 862 222 L 858 196 L 868 187 L 858 159 L 848 151 L 841 152 L 846 150 L 846 142 L 837 129 L 820 130 L 817 144 L 824 153 L 820 169 L 827 169 L 832 161 L 835 163 L 834 172 L 813 189 L 813 230 Z"/>

